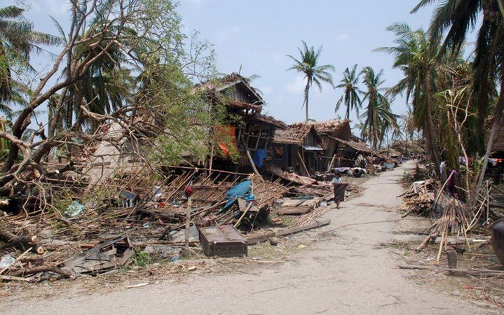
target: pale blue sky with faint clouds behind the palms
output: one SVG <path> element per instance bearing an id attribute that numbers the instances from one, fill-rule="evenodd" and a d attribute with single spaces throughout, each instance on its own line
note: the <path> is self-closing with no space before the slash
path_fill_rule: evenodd
<path id="1" fill-rule="evenodd" d="M 15 0 L 2 0 L 2 5 Z M 57 34 L 49 15 L 68 25 L 67 0 L 26 0 L 30 9 L 25 14 L 38 31 Z M 210 41 L 217 53 L 217 69 L 222 73 L 238 71 L 251 76 L 252 82 L 263 93 L 264 113 L 286 123 L 304 120 L 304 77 L 296 71 L 287 71 L 298 57 L 297 47 L 304 40 L 315 49 L 323 46 L 321 64 L 332 64 L 334 83 L 343 77 L 347 67 L 372 66 L 384 70 L 384 86 L 390 87 L 402 78 L 392 69 L 393 57 L 375 48 L 393 44 L 394 36 L 386 27 L 395 22 L 407 22 L 412 28 L 427 28 L 433 6 L 411 15 L 418 0 L 181 0 L 178 11 L 184 24 L 184 33 L 200 32 L 200 39 Z M 48 57 L 32 59 L 37 69 L 47 69 Z M 322 92 L 313 85 L 310 92 L 310 118 L 328 120 L 343 117 L 334 106 L 341 90 L 324 85 Z M 365 104 L 364 104 L 365 106 Z M 393 112 L 402 114 L 406 104 L 395 99 Z M 357 123 L 355 113 L 350 116 Z"/>

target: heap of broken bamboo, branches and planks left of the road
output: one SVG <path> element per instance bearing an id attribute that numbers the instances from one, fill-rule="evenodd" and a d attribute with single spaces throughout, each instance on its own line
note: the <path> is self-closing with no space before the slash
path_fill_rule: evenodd
<path id="1" fill-rule="evenodd" d="M 166 172 L 154 173 L 145 167 L 114 172 L 103 184 L 95 182 L 86 186 L 68 178 L 55 181 L 54 186 L 71 193 L 71 199 L 61 207 L 53 207 L 52 211 L 42 207 L 36 211 L 27 208 L 27 211 L 2 218 L 0 241 L 21 251 L 30 249 L 41 254 L 46 249 L 46 253 L 38 257 L 25 254 L 29 260 L 9 266 L 4 279 L 9 276 L 11 280 L 17 279 L 19 275 L 27 276 L 21 279 L 29 281 L 48 276 L 76 276 L 85 272 L 82 265 L 88 266 L 84 267 L 88 268 L 86 273 L 97 274 L 125 265 L 132 258 L 128 248 L 141 250 L 146 244 L 158 244 L 163 251 L 169 252 L 168 258 L 170 254 L 176 255 L 184 241 L 188 207 L 185 190 L 189 184 L 193 188 L 191 226 L 236 224 L 248 232 L 257 228 L 256 221 L 261 215 L 268 215 L 269 207 L 287 193 L 287 188 L 251 175 L 254 207 L 243 207 L 240 201 L 244 200 L 238 200 L 224 209 L 226 191 L 247 177 L 190 167 L 171 167 Z M 67 212 L 76 204 L 81 206 L 81 212 Z M 128 246 L 107 243 L 108 239 L 126 234 Z M 97 244 L 102 242 L 107 246 L 97 251 Z M 95 249 L 83 255 L 81 248 Z M 0 257 L 6 253 L 12 251 L 0 250 Z M 94 255 L 99 255 L 100 259 L 96 260 Z M 71 261 L 75 263 L 70 266 L 66 262 L 65 265 L 64 261 L 74 256 Z"/>

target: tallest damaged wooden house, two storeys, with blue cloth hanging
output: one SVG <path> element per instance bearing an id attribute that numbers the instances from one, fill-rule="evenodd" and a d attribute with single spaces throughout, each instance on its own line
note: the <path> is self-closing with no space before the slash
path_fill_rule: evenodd
<path id="1" fill-rule="evenodd" d="M 226 113 L 230 118 L 226 129 L 234 137 L 240 152 L 237 164 L 229 163 L 229 159 L 212 155 L 210 166 L 235 172 L 260 171 L 264 161 L 271 160 L 270 148 L 275 130 L 287 126 L 280 120 L 261 114 L 264 100 L 247 78 L 238 73 L 231 73 L 201 86 L 209 90 L 210 105 L 214 102 L 226 104 Z M 241 121 L 237 122 L 232 119 L 233 117 L 239 117 Z M 218 144 L 218 146 L 222 151 L 226 151 L 225 145 Z"/>

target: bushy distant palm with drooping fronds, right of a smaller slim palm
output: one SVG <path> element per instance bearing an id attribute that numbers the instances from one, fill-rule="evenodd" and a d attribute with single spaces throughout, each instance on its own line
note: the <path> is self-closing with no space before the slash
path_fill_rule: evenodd
<path id="1" fill-rule="evenodd" d="M 361 74 L 364 75 L 362 82 L 367 90 L 364 92 L 364 99 L 367 100 L 365 113 L 362 113 L 361 118 L 365 119 L 365 127 L 371 141 L 372 148 L 376 149 L 381 145 L 383 137 L 390 128 L 397 127 L 397 115 L 390 111 L 390 102 L 388 98 L 381 92 L 384 90 L 380 87 L 384 80 L 383 70 L 375 73 L 370 66 L 362 69 Z"/>

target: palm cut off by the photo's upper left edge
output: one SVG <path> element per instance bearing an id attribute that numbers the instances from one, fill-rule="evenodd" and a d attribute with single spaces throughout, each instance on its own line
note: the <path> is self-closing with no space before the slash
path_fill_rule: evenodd
<path id="1" fill-rule="evenodd" d="M 31 22 L 22 20 L 24 11 L 18 6 L 0 8 L 0 102 L 13 97 L 16 83 L 13 82 L 11 70 L 14 62 L 32 70 L 29 65 L 30 52 L 41 52 L 40 44 L 57 45 L 61 42 L 57 36 L 34 31 Z"/>

